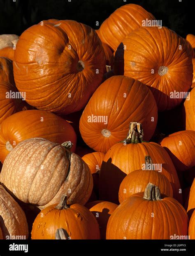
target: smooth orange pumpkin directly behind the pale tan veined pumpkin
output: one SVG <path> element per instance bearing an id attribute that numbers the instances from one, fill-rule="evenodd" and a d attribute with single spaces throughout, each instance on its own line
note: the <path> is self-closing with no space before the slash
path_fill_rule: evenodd
<path id="1" fill-rule="evenodd" d="M 71 141 L 75 151 L 77 135 L 66 120 L 44 110 L 26 110 L 9 116 L 0 125 L 0 161 L 5 161 L 7 154 L 19 142 L 41 137 L 52 142 Z"/>

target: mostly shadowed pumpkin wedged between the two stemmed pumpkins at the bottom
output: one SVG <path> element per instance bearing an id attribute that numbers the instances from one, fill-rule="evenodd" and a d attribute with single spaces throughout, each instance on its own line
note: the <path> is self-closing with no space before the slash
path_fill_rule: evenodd
<path id="1" fill-rule="evenodd" d="M 93 213 L 99 224 L 101 239 L 106 239 L 106 228 L 109 217 L 118 205 L 114 204 L 113 202 L 94 201 L 89 202 L 85 206 L 90 210 L 90 212 Z"/>

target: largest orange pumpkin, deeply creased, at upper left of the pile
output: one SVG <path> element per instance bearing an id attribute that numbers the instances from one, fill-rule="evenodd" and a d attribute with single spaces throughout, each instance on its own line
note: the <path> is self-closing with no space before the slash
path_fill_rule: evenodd
<path id="1" fill-rule="evenodd" d="M 101 41 L 89 26 L 42 21 L 25 30 L 16 45 L 16 87 L 26 91 L 26 101 L 37 109 L 77 112 L 100 85 L 105 58 Z"/>

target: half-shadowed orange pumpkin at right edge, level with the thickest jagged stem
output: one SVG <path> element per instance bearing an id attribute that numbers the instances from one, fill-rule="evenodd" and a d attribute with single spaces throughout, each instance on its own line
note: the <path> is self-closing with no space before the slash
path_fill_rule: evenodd
<path id="1" fill-rule="evenodd" d="M 195 166 L 195 131 L 172 133 L 160 144 L 167 150 L 177 171 L 185 171 Z"/>

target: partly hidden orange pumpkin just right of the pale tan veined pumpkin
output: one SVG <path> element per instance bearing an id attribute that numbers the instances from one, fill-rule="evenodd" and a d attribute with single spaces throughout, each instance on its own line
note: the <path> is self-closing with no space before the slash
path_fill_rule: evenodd
<path id="1" fill-rule="evenodd" d="M 93 189 L 98 194 L 99 188 L 99 172 L 104 159 L 105 154 L 101 152 L 93 152 L 86 154 L 82 157 L 84 162 L 88 165 L 93 176 Z"/>

